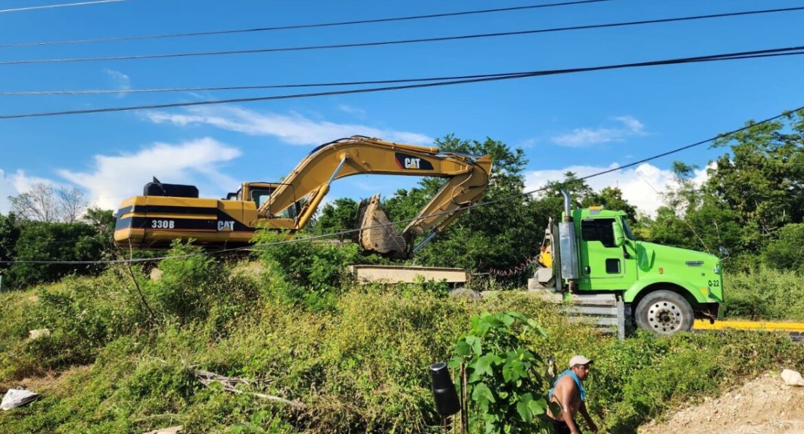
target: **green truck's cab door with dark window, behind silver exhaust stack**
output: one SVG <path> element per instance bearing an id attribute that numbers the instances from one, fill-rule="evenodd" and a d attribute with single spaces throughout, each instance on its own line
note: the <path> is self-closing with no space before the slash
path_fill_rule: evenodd
<path id="1" fill-rule="evenodd" d="M 580 289 L 622 289 L 626 261 L 614 244 L 613 218 L 580 221 Z"/>

